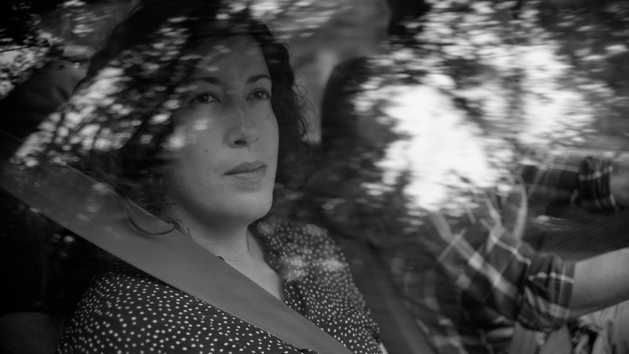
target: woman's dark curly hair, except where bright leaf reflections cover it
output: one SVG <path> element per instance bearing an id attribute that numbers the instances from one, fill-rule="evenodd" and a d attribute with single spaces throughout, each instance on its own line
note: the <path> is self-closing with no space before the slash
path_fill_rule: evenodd
<path id="1" fill-rule="evenodd" d="M 168 43 L 177 43 L 176 50 L 168 44 L 155 42 L 156 33 L 168 36 L 168 31 L 175 35 L 184 34 L 181 38 L 170 38 Z M 246 8 L 231 11 L 228 6 L 211 0 L 147 1 L 111 30 L 108 44 L 91 60 L 84 85 L 99 80 L 101 72 L 115 63 L 126 75 L 126 89 L 118 95 L 128 95 L 127 100 L 136 97 L 145 109 L 129 113 L 129 120 L 135 122 L 131 124 L 136 128 L 128 134 L 130 138 L 123 146 L 106 151 L 92 149 L 81 158 L 79 167 L 177 226 L 168 219 L 169 205 L 164 199 L 165 190 L 160 184 L 159 172 L 159 166 L 167 163 L 159 158 L 159 152 L 174 128 L 172 121 L 155 124 L 154 119 L 159 116 L 156 112 L 164 107 L 164 102 L 172 101 L 177 84 L 194 69 L 198 60 L 194 53 L 198 53 L 199 48 L 206 47 L 211 41 L 237 35 L 254 38 L 269 68 L 271 104 L 279 126 L 276 179 L 282 184 L 289 182 L 287 179 L 294 175 L 289 170 L 298 165 L 299 155 L 306 148 L 306 123 L 301 111 L 303 96 L 296 90 L 289 50 L 272 33 L 269 25 L 253 19 Z M 134 50 L 138 56 L 131 55 Z M 160 69 L 147 74 L 149 65 L 138 59 L 146 58 L 146 53 L 141 52 L 147 51 L 152 58 L 155 57 L 153 52 L 163 52 L 158 54 L 163 56 L 157 60 L 169 64 L 158 62 Z M 150 139 L 147 140 L 147 136 Z"/>

